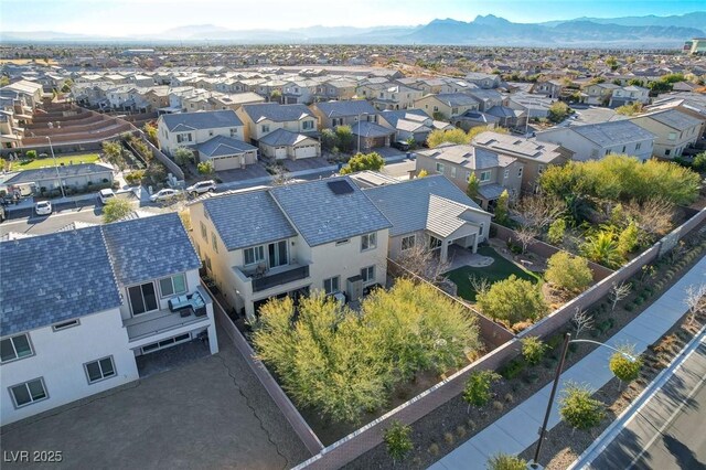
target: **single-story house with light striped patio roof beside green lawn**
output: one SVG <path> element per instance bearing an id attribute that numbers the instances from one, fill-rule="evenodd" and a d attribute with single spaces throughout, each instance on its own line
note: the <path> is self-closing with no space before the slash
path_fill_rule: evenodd
<path id="1" fill-rule="evenodd" d="M 475 253 L 489 237 L 491 214 L 440 174 L 363 192 L 392 223 L 387 253 L 393 260 L 422 245 L 446 263 L 457 249 Z"/>

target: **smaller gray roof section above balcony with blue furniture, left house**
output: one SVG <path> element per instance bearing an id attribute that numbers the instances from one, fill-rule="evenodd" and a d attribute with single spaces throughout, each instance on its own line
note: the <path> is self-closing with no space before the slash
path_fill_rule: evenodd
<path id="1" fill-rule="evenodd" d="M 176 213 L 116 222 L 103 231 L 116 278 L 122 286 L 201 267 Z"/>

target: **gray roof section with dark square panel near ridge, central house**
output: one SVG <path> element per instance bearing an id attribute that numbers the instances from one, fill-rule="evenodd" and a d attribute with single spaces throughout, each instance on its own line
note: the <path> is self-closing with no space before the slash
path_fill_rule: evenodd
<path id="1" fill-rule="evenodd" d="M 346 182 L 352 191 L 334 194 L 329 188 L 329 183 L 334 181 Z M 347 177 L 288 184 L 274 188 L 270 193 L 309 246 L 392 226 Z"/>

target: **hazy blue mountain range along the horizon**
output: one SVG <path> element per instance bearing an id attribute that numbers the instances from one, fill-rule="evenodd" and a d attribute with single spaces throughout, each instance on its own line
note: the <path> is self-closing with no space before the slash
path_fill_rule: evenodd
<path id="1" fill-rule="evenodd" d="M 232 30 L 213 24 L 172 28 L 133 38 L 90 36 L 52 31 L 1 32 L 0 41 L 121 44 L 445 44 L 543 47 L 678 47 L 706 35 L 706 12 L 672 17 L 577 18 L 545 23 L 513 23 L 479 15 L 473 21 L 437 19 L 421 25 L 375 28 L 308 26 Z"/>

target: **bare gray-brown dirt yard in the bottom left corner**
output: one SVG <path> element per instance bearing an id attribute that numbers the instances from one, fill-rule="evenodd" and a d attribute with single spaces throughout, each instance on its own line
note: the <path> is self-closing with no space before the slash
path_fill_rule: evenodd
<path id="1" fill-rule="evenodd" d="M 214 356 L 6 426 L 1 450 L 61 450 L 52 468 L 67 469 L 288 469 L 310 457 L 225 337 L 220 346 Z"/>

